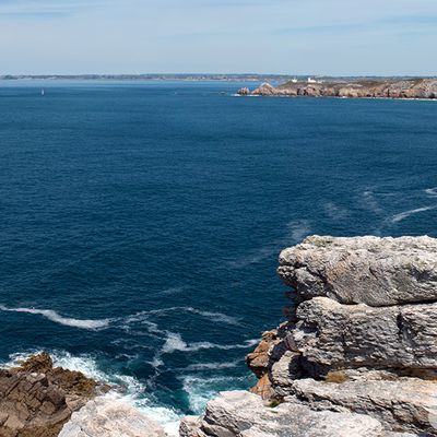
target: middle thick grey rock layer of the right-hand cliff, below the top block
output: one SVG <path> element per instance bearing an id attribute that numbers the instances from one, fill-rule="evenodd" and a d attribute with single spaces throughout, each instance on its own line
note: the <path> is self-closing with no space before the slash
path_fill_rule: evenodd
<path id="1" fill-rule="evenodd" d="M 437 304 L 373 308 L 316 297 L 287 334 L 309 375 L 343 368 L 437 369 Z"/>

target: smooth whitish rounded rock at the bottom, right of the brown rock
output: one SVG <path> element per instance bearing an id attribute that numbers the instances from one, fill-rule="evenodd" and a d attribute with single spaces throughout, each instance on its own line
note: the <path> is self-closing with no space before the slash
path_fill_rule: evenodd
<path id="1" fill-rule="evenodd" d="M 117 399 L 99 397 L 73 413 L 59 437 L 165 437 L 163 428 Z"/>

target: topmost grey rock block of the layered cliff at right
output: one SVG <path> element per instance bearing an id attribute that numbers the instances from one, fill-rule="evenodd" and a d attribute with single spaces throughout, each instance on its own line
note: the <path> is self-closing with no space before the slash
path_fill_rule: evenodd
<path id="1" fill-rule="evenodd" d="M 280 256 L 279 274 L 302 299 L 389 306 L 437 300 L 437 239 L 308 237 Z"/>

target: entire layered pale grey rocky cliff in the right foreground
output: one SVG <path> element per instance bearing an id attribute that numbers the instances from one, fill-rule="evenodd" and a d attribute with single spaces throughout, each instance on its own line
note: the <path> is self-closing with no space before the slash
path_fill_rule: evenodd
<path id="1" fill-rule="evenodd" d="M 280 256 L 287 321 L 182 437 L 437 436 L 437 239 L 309 237 Z"/>

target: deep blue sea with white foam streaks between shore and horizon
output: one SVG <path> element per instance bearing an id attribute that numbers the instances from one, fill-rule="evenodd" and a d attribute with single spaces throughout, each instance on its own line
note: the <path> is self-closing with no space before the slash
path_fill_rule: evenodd
<path id="1" fill-rule="evenodd" d="M 0 83 L 1 362 L 48 351 L 170 427 L 253 383 L 282 248 L 437 236 L 437 102 L 243 85 Z"/>

